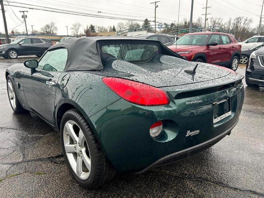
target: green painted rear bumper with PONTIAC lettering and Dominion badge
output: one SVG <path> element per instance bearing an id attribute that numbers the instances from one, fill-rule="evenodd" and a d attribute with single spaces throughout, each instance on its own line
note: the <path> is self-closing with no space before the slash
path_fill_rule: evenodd
<path id="1" fill-rule="evenodd" d="M 227 90 L 200 96 L 174 99 L 172 95 L 170 104 L 155 107 L 120 99 L 89 117 L 100 146 L 118 171 L 144 172 L 171 163 L 167 159 L 193 155 L 194 150 L 225 136 L 239 120 L 244 88 L 241 82 Z M 213 123 L 212 103 L 227 97 L 231 101 L 231 115 Z M 197 100 L 203 102 L 187 104 Z M 154 139 L 149 128 L 157 121 L 162 121 L 163 128 L 160 138 Z"/>

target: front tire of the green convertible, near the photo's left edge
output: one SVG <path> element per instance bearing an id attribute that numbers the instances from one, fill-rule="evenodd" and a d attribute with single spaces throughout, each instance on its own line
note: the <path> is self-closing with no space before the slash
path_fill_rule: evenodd
<path id="1" fill-rule="evenodd" d="M 17 113 L 17 114 L 20 114 L 20 113 L 23 113 L 23 112 L 27 111 L 21 106 L 21 104 L 20 104 L 20 102 L 18 100 L 17 93 L 16 93 L 16 90 L 15 90 L 15 87 L 14 87 L 14 84 L 13 84 L 13 80 L 11 79 L 10 75 L 7 76 L 6 82 L 7 82 L 6 83 L 7 84 L 7 95 L 8 95 L 9 103 L 10 103 L 10 106 L 11 106 L 12 110 L 15 113 Z M 11 82 L 11 86 L 13 88 L 13 94 L 10 94 L 10 88 L 8 87 L 9 86 L 9 82 Z M 15 100 L 15 107 L 14 107 L 14 105 L 11 104 L 12 101 L 10 99 L 10 95 L 13 95 L 13 98 L 14 98 L 13 100 Z"/>

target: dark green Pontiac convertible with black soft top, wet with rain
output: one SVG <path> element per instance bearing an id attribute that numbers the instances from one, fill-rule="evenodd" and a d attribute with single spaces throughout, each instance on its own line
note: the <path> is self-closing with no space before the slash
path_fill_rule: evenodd
<path id="1" fill-rule="evenodd" d="M 57 128 L 70 172 L 87 188 L 213 146 L 244 100 L 243 76 L 136 37 L 68 39 L 5 75 L 13 111 Z"/>

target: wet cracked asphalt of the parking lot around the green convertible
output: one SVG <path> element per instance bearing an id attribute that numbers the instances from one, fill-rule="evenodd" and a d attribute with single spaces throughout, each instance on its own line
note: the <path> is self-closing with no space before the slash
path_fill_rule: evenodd
<path id="1" fill-rule="evenodd" d="M 240 120 L 212 148 L 87 190 L 70 175 L 59 134 L 36 115 L 14 114 L 10 107 L 5 69 L 32 58 L 0 58 L 0 197 L 264 197 L 263 87 L 248 87 L 243 79 Z M 237 73 L 244 75 L 245 68 Z"/>

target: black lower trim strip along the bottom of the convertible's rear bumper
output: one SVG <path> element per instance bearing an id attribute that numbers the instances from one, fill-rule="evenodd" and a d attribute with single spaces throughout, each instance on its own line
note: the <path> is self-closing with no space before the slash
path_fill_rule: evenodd
<path id="1" fill-rule="evenodd" d="M 222 140 L 226 135 L 229 135 L 231 130 L 237 124 L 237 122 L 238 122 L 238 120 L 230 128 L 228 128 L 227 130 L 225 130 L 223 133 L 219 134 L 218 136 L 212 138 L 211 140 L 207 140 L 206 142 L 203 142 L 203 143 L 198 144 L 196 146 L 193 146 L 193 147 L 184 149 L 182 151 L 178 151 L 176 153 L 172 153 L 170 155 L 162 157 L 161 159 L 155 161 L 154 163 L 152 163 L 150 166 L 146 167 L 142 171 L 138 171 L 137 174 L 144 173 L 146 171 L 154 169 L 155 167 L 160 167 L 160 166 L 168 165 L 171 163 L 175 163 L 177 161 L 180 161 L 182 159 L 186 159 L 188 157 L 196 155 L 196 154 L 210 148 L 211 146 L 215 145 L 217 142 Z"/>

